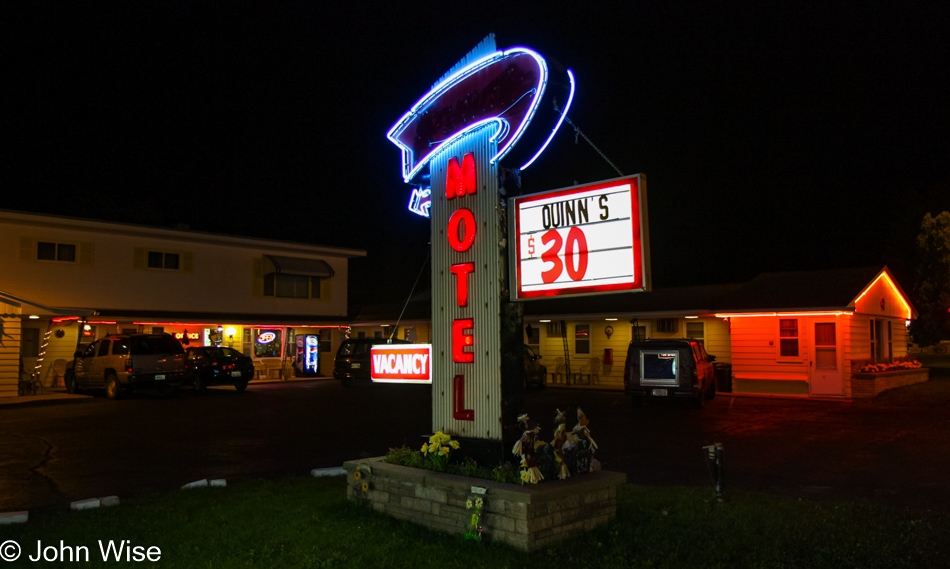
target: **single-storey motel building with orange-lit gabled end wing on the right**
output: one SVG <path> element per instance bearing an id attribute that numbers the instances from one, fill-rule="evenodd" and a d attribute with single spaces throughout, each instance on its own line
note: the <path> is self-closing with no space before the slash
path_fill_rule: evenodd
<path id="1" fill-rule="evenodd" d="M 395 337 L 428 342 L 428 302 L 367 307 L 353 333 L 389 337 L 397 327 Z M 861 366 L 907 355 L 914 317 L 886 267 L 764 273 L 739 284 L 526 300 L 524 343 L 553 387 L 622 390 L 635 337 L 689 337 L 716 356 L 720 391 L 851 399 L 866 396 L 856 387 Z"/>

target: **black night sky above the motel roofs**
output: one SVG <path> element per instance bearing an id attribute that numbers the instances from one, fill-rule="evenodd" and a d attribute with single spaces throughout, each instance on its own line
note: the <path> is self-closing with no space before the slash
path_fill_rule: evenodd
<path id="1" fill-rule="evenodd" d="M 950 209 L 943 0 L 375 4 L 4 5 L 0 208 L 365 248 L 354 280 L 405 291 L 428 221 L 384 134 L 494 32 L 574 70 L 571 120 L 647 175 L 655 286 L 886 263 L 911 288 Z M 613 177 L 565 129 L 523 183 Z"/>

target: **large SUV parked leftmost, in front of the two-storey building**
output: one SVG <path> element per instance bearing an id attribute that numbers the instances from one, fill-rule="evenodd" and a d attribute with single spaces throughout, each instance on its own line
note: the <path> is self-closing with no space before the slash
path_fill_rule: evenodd
<path id="1" fill-rule="evenodd" d="M 105 389 L 109 399 L 139 389 L 177 392 L 184 377 L 185 350 L 170 334 L 106 336 L 76 352 L 65 376 L 70 393 Z"/>

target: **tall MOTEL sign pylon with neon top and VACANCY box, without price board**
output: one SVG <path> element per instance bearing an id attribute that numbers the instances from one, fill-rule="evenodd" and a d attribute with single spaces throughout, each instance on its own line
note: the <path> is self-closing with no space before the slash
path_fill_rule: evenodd
<path id="1" fill-rule="evenodd" d="M 504 280 L 498 274 L 503 250 L 497 246 L 497 173 L 506 157 L 527 168 L 554 137 L 573 101 L 574 77 L 570 71 L 567 77 L 562 83 L 570 94 L 560 99 L 563 108 L 556 120 L 553 113 L 545 117 L 553 126 L 529 131 L 544 114 L 539 108 L 545 93 L 554 92 L 547 62 L 525 47 L 496 50 L 489 37 L 386 134 L 400 148 L 403 180 L 417 188 L 410 210 L 433 220 L 433 428 L 502 438 L 500 354 L 489 348 L 501 334 L 499 311 L 491 307 L 499 306 Z M 529 142 L 516 155 L 512 149 L 521 140 Z M 414 374 L 422 365 L 421 354 L 410 361 L 408 354 L 400 360 L 395 354 L 383 358 L 385 348 L 377 352 L 373 365 L 384 376 L 407 369 Z"/>

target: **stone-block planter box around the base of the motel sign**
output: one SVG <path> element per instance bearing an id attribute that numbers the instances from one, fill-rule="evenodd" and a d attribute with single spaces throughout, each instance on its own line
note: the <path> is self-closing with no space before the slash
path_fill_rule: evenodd
<path id="1" fill-rule="evenodd" d="M 365 465 L 361 478 L 354 480 L 360 465 Z M 580 535 L 615 518 L 617 487 L 627 481 L 626 474 L 598 471 L 520 486 L 386 464 L 381 457 L 351 460 L 343 468 L 348 499 L 366 500 L 376 511 L 458 536 L 468 530 L 473 513 L 465 508 L 466 500 L 481 497 L 484 539 L 523 551 Z M 366 492 L 363 483 L 369 486 Z M 473 487 L 484 489 L 484 495 L 474 494 Z"/>

